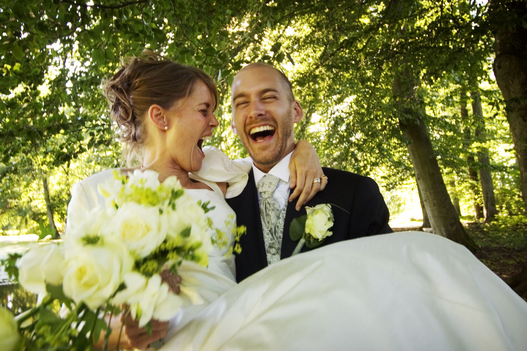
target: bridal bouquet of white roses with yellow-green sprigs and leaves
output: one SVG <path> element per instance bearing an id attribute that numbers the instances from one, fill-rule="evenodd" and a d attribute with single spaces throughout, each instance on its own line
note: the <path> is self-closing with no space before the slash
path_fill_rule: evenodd
<path id="1" fill-rule="evenodd" d="M 38 294 L 37 306 L 15 318 L 17 348 L 86 349 L 102 330 L 110 335 L 107 322 L 123 308 L 148 330 L 152 318 L 168 320 L 200 302 L 184 284 L 173 294 L 160 272 L 177 274 L 183 260 L 207 266 L 213 245 L 226 245 L 225 233 L 209 230 L 208 203 L 193 200 L 177 178 L 160 183 L 148 170 L 115 171 L 99 191 L 105 205 L 69 222 L 61 244 L 4 261 L 9 275 Z"/>

